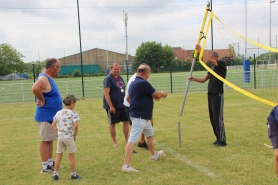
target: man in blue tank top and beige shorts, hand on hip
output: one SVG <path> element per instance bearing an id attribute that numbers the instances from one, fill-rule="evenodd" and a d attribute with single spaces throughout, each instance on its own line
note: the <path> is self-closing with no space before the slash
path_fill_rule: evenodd
<path id="1" fill-rule="evenodd" d="M 45 64 L 45 71 L 33 84 L 32 91 L 37 99 L 35 121 L 41 137 L 40 155 L 42 160 L 41 172 L 53 172 L 53 141 L 57 135 L 52 128 L 55 114 L 62 109 L 62 98 L 53 78 L 60 71 L 60 62 L 55 58 L 49 58 Z"/>

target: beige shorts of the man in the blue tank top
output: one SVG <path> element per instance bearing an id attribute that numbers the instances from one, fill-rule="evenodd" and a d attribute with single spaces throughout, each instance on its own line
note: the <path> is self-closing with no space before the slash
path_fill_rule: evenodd
<path id="1" fill-rule="evenodd" d="M 37 122 L 41 141 L 56 141 L 57 135 L 48 122 Z"/>

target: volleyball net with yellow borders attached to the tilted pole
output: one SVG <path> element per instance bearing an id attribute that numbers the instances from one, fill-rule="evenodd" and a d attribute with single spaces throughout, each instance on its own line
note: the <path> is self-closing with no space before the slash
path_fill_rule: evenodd
<path id="1" fill-rule="evenodd" d="M 208 19 L 203 22 L 198 41 L 201 44 L 200 64 L 226 88 L 232 88 L 250 98 L 270 106 L 277 105 L 278 49 L 249 40 L 225 25 L 212 11 L 206 10 Z M 211 32 L 213 29 L 213 32 Z M 226 78 L 216 74 L 203 61 L 204 52 L 218 52 L 219 59 L 226 62 Z"/>

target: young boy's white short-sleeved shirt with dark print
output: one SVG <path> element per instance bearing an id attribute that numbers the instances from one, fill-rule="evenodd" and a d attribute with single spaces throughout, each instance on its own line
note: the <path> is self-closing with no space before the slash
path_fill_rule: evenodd
<path id="1" fill-rule="evenodd" d="M 76 112 L 69 109 L 62 109 L 56 113 L 53 119 L 57 123 L 56 127 L 59 136 L 63 138 L 73 138 L 73 123 L 80 120 Z"/>

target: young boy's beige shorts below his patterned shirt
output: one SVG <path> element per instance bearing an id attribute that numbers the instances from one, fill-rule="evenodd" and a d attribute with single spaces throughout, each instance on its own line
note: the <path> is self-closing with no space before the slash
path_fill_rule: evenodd
<path id="1" fill-rule="evenodd" d="M 74 138 L 63 138 L 59 136 L 57 141 L 56 153 L 63 153 L 64 151 L 66 151 L 66 149 L 68 149 L 69 154 L 77 151 Z"/>

